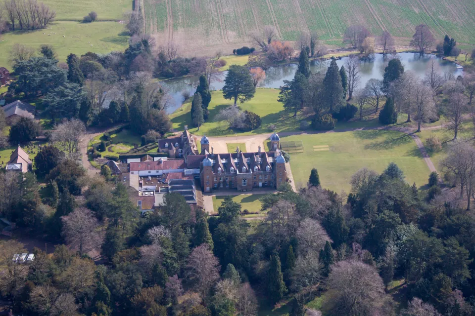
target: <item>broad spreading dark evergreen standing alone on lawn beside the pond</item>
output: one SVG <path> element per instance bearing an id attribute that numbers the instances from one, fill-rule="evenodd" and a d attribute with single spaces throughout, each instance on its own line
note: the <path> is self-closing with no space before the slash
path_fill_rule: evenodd
<path id="1" fill-rule="evenodd" d="M 231 65 L 224 80 L 223 97 L 225 99 L 234 99 L 234 105 L 249 101 L 254 97 L 256 88 L 252 81 L 249 70 L 244 66 Z"/>

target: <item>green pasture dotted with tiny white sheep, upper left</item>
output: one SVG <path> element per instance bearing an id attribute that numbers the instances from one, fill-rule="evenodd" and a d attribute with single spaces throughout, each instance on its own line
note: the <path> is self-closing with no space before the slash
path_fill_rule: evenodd
<path id="1" fill-rule="evenodd" d="M 48 36 L 48 34 L 51 35 Z M 79 56 L 88 51 L 95 53 L 123 51 L 128 46 L 128 39 L 129 36 L 124 32 L 124 25 L 118 22 L 84 24 L 74 21 L 57 21 L 45 30 L 15 31 L 3 34 L 0 40 L 0 51 L 2 52 L 0 65 L 11 70 L 8 53 L 16 43 L 34 48 L 39 48 L 43 44 L 52 45 L 59 61 L 66 62 L 66 56 L 70 53 Z"/>

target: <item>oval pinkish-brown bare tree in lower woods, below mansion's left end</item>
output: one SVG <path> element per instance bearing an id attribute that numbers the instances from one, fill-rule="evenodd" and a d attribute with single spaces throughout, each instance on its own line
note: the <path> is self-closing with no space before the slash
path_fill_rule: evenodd
<path id="1" fill-rule="evenodd" d="M 200 293 L 201 299 L 205 299 L 219 279 L 219 262 L 209 249 L 207 243 L 194 248 L 188 257 L 187 273 L 188 280 L 194 289 Z"/>

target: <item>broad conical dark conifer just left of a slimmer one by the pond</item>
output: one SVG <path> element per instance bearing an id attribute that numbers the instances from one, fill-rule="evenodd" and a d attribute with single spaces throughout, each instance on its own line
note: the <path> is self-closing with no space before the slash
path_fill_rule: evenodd
<path id="1" fill-rule="evenodd" d="M 337 112 L 344 104 L 344 99 L 340 71 L 335 59 L 330 62 L 330 67 L 328 67 L 325 79 L 323 79 L 323 86 L 324 102 L 329 107 L 330 113 Z"/>

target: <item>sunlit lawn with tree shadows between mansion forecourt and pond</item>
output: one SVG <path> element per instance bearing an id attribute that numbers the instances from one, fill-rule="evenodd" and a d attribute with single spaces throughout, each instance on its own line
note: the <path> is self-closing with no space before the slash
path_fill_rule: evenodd
<path id="1" fill-rule="evenodd" d="M 233 131 L 228 129 L 228 124 L 226 122 L 214 121 L 218 112 L 229 107 L 233 102 L 225 100 L 222 91 L 213 91 L 211 93 L 212 98 L 208 106 L 208 121 L 199 128 L 199 131 L 197 128 L 190 128 L 190 133 L 192 134 L 203 135 L 206 133 L 208 136 L 229 136 L 234 135 L 235 133 L 238 135 L 263 134 L 272 132 L 269 128 L 269 125 L 271 124 L 276 126 L 275 130 L 277 132 L 294 131 L 298 129 L 300 121 L 304 118 L 301 115 L 298 115 L 297 118 L 293 118 L 292 113 L 286 113 L 284 111 L 282 103 L 277 102 L 279 96 L 278 89 L 259 88 L 256 89 L 256 93 L 252 100 L 240 103 L 238 106 L 242 110 L 252 111 L 259 115 L 262 120 L 261 126 L 249 132 Z M 190 116 L 191 101 L 192 98 L 190 98 L 180 109 L 170 115 L 173 128 L 183 130 L 185 125 L 192 126 Z"/>

